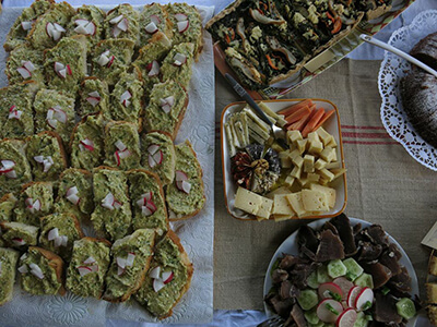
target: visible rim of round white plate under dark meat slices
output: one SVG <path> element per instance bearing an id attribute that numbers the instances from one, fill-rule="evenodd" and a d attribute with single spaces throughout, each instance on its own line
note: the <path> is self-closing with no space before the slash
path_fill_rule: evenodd
<path id="1" fill-rule="evenodd" d="M 371 226 L 370 222 L 362 220 L 362 219 L 356 219 L 356 218 L 349 218 L 351 220 L 351 225 L 355 226 L 357 223 L 362 225 L 362 228 L 366 228 Z M 324 222 L 329 221 L 330 219 L 321 219 L 321 220 L 316 220 L 308 226 L 312 229 L 320 229 Z M 299 247 L 297 245 L 297 232 L 296 230 L 293 234 L 291 234 L 281 245 L 277 247 L 276 252 L 273 254 L 273 257 L 269 264 L 269 268 L 267 269 L 265 272 L 265 278 L 264 278 L 264 292 L 263 292 L 263 298 L 269 293 L 270 289 L 272 288 L 272 279 L 270 276 L 270 271 L 272 270 L 273 264 L 276 262 L 277 258 L 280 258 L 284 253 L 286 254 L 292 254 L 292 255 L 298 255 L 299 254 Z M 411 294 L 418 294 L 418 282 L 417 282 L 417 276 L 416 272 L 414 271 L 413 264 L 411 263 L 409 256 L 406 255 L 405 251 L 403 251 L 402 246 L 392 238 L 390 237 L 389 233 L 386 232 L 386 234 L 389 237 L 389 240 L 391 243 L 394 243 L 399 251 L 402 253 L 402 257 L 399 261 L 401 265 L 403 265 L 406 270 L 409 271 L 409 275 L 411 277 Z M 269 306 L 264 302 L 264 310 L 265 314 L 268 317 L 274 315 L 272 311 L 270 311 Z M 413 327 L 416 324 L 417 316 L 410 319 L 409 324 L 406 325 L 408 327 Z"/>

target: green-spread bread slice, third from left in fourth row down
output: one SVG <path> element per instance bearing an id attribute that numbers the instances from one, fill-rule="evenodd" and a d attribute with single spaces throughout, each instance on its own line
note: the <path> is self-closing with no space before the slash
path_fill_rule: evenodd
<path id="1" fill-rule="evenodd" d="M 71 166 L 93 170 L 105 157 L 105 120 L 102 113 L 90 114 L 79 122 L 70 141 Z"/>

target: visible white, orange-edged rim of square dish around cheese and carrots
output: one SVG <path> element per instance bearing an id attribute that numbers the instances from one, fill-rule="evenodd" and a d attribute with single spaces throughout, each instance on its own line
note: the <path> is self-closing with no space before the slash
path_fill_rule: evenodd
<path id="1" fill-rule="evenodd" d="M 303 99 L 291 99 L 291 100 L 264 100 L 264 104 L 274 111 L 277 112 L 282 109 L 285 109 L 294 104 L 300 102 Z M 341 159 L 341 165 L 344 168 L 344 156 L 343 156 L 343 142 L 341 137 L 341 128 L 340 128 L 340 117 L 339 110 L 335 105 L 328 100 L 322 99 L 312 99 L 312 102 L 316 104 L 317 108 L 324 108 L 326 110 L 334 110 L 334 114 L 324 122 L 323 129 L 332 134 L 338 142 L 336 147 L 336 157 Z M 231 173 L 231 160 L 229 160 L 229 147 L 228 141 L 225 133 L 225 122 L 229 114 L 240 111 L 246 106 L 246 102 L 234 102 L 228 105 L 225 109 L 223 109 L 222 113 L 222 122 L 221 122 L 221 136 L 222 136 L 222 169 L 223 169 L 223 184 L 225 192 L 225 203 L 227 207 L 227 211 L 237 219 L 244 220 L 253 220 L 250 215 L 243 213 L 239 209 L 234 207 L 236 185 L 233 180 Z M 311 218 L 330 218 L 340 215 L 344 208 L 346 207 L 347 202 L 347 187 L 346 187 L 346 175 L 343 174 L 341 178 L 336 179 L 332 183 L 332 187 L 336 191 L 336 199 L 335 206 L 330 210 L 319 216 L 305 217 L 305 219 Z"/>

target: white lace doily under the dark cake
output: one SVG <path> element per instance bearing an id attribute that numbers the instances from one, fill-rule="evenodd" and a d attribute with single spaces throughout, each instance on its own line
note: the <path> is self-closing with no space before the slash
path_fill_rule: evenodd
<path id="1" fill-rule="evenodd" d="M 410 52 L 418 40 L 437 32 L 436 22 L 436 10 L 424 11 L 413 20 L 411 25 L 395 31 L 389 44 Z M 406 60 L 386 51 L 378 76 L 379 94 L 382 98 L 382 124 L 389 135 L 402 144 L 417 162 L 437 171 L 437 149 L 415 132 L 402 107 L 400 81 L 410 70 L 411 65 Z"/>

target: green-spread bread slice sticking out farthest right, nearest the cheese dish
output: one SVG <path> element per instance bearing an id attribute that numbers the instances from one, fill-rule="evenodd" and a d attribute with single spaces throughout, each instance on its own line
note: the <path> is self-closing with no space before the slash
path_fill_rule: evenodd
<path id="1" fill-rule="evenodd" d="M 202 168 L 191 143 L 176 145 L 175 181 L 166 187 L 170 220 L 196 216 L 205 203 Z"/>

